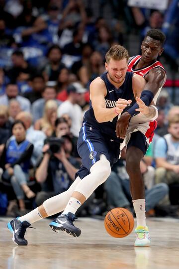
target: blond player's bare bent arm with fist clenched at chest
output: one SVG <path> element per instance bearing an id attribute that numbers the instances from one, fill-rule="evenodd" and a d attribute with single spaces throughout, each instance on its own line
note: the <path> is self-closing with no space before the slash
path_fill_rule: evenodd
<path id="1" fill-rule="evenodd" d="M 131 103 L 131 100 L 119 99 L 116 106 L 106 108 L 104 97 L 107 94 L 105 84 L 101 78 L 96 78 L 90 84 L 90 100 L 98 123 L 109 122 L 119 115 L 124 108 Z"/>

